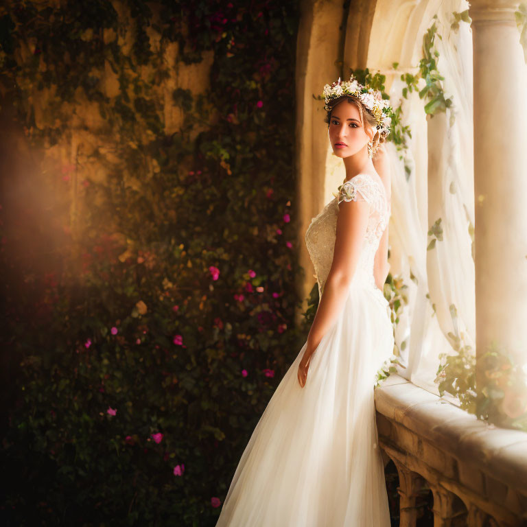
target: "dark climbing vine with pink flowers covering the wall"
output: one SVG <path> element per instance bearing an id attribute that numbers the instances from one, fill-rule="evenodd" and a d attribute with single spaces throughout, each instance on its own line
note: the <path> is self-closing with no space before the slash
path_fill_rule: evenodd
<path id="1" fill-rule="evenodd" d="M 52 220 L 35 222 L 37 247 L 54 229 L 43 255 L 21 257 L 1 223 L 11 479 L 0 517 L 214 525 L 307 334 L 294 327 L 296 3 L 164 0 L 152 23 L 150 3 L 134 1 L 126 48 L 102 38 L 129 22 L 106 0 L 9 5 L 0 58 L 27 139 L 47 152 L 69 137 L 79 93 L 104 126 L 77 163 L 49 158 L 33 175 L 56 200 Z M 172 93 L 175 133 L 158 90 L 174 65 L 152 32 L 161 49 L 178 44 L 180 64 L 212 56 L 207 93 Z M 115 97 L 102 93 L 105 65 Z M 151 77 L 137 75 L 147 66 Z M 55 94 L 45 108 L 39 90 Z M 37 113 L 54 118 L 38 126 Z"/>

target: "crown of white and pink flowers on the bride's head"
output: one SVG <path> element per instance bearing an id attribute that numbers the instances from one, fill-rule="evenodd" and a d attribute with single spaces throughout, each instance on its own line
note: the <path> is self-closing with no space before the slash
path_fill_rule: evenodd
<path id="1" fill-rule="evenodd" d="M 392 124 L 390 115 L 393 115 L 393 111 L 390 108 L 388 100 L 382 98 L 379 90 L 360 84 L 353 75 L 351 75 L 349 80 L 341 81 L 339 77 L 338 81 L 333 82 L 333 84 L 326 84 L 323 95 L 325 99 L 324 108 L 328 112 L 331 110 L 331 106 L 329 106 L 331 99 L 342 97 L 342 95 L 353 95 L 357 97 L 364 104 L 366 110 L 375 117 L 379 135 L 386 137 L 390 133 L 390 126 Z"/>

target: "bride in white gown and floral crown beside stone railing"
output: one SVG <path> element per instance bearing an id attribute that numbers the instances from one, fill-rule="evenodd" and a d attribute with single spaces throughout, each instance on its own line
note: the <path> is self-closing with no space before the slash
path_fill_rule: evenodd
<path id="1" fill-rule="evenodd" d="M 239 460 L 217 527 L 390 526 L 373 399 L 394 344 L 382 293 L 390 181 L 382 150 L 375 165 L 373 154 L 393 114 L 353 76 L 323 95 L 346 177 L 305 233 L 320 301 Z"/>

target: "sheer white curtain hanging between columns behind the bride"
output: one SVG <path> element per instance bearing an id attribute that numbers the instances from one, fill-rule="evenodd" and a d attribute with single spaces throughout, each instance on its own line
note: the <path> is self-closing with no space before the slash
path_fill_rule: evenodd
<path id="1" fill-rule="evenodd" d="M 409 300 L 395 334 L 405 366 L 398 369 L 433 393 L 438 393 L 434 379 L 439 354 L 453 353 L 447 334 L 460 336 L 474 351 L 476 342 L 469 229 L 474 224 L 472 37 L 467 23 L 460 23 L 458 32 L 450 27 L 452 12 L 467 7 L 466 1 L 444 1 L 436 11 L 438 34 L 443 37 L 434 40 L 438 70 L 445 78 L 445 97 L 453 99 L 447 113 L 427 119 L 425 102 L 417 93 L 402 98 L 406 84 L 399 77 L 390 86 L 392 104 L 402 100 L 403 124 L 409 124 L 412 132 L 404 161 L 395 145 L 388 143 L 390 268 L 408 285 Z M 405 164 L 410 167 L 408 178 Z M 434 248 L 427 250 L 433 238 L 428 231 L 440 218 L 443 239 L 436 239 Z"/>

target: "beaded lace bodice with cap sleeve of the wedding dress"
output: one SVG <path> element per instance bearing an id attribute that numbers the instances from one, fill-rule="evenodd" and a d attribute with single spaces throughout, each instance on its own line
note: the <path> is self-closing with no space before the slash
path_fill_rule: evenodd
<path id="1" fill-rule="evenodd" d="M 388 225 L 390 205 L 382 183 L 369 174 L 357 174 L 338 187 L 338 193 L 312 220 L 305 231 L 307 252 L 313 262 L 318 282 L 318 294 L 322 296 L 324 284 L 333 261 L 337 216 L 342 201 L 366 201 L 369 204 L 368 226 L 353 281 L 360 280 L 382 292 L 375 285 L 373 260 L 379 241 Z"/>

